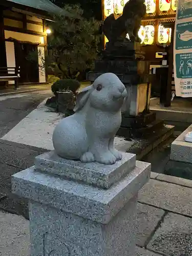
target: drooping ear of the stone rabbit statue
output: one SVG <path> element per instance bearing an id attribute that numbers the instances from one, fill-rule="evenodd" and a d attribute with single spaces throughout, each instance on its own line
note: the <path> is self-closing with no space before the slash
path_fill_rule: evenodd
<path id="1" fill-rule="evenodd" d="M 76 96 L 76 104 L 75 108 L 73 109 L 74 112 L 77 112 L 83 108 L 84 105 L 86 105 L 90 93 L 93 90 L 93 84 L 91 86 L 88 86 L 86 88 L 83 88 L 82 91 L 80 91 Z"/>

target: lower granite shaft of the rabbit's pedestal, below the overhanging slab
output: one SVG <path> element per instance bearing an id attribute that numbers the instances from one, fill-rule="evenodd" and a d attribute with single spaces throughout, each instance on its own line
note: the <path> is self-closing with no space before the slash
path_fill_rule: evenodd
<path id="1" fill-rule="evenodd" d="M 137 197 L 134 197 L 110 223 L 103 225 L 46 205 L 31 203 L 31 254 L 132 256 L 135 250 L 131 241 L 136 231 L 136 204 Z"/>

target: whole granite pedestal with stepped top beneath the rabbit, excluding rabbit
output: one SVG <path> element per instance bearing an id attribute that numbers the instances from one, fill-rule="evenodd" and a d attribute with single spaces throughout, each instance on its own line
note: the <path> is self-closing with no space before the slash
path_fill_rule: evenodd
<path id="1" fill-rule="evenodd" d="M 128 153 L 114 165 L 36 157 L 12 176 L 13 193 L 30 202 L 31 256 L 134 256 L 137 194 L 150 169 Z"/>

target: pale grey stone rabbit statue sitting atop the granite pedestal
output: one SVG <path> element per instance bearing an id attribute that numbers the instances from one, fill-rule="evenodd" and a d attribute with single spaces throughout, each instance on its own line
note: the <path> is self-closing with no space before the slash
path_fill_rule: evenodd
<path id="1" fill-rule="evenodd" d="M 53 145 L 62 158 L 114 164 L 122 154 L 114 148 L 121 124 L 124 84 L 113 73 L 99 76 L 78 95 L 75 114 L 63 118 L 53 132 Z"/>

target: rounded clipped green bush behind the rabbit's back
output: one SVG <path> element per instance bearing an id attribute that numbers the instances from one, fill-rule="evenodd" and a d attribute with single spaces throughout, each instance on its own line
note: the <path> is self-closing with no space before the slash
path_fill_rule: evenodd
<path id="1" fill-rule="evenodd" d="M 60 79 L 52 84 L 51 90 L 54 94 L 61 91 L 72 91 L 76 94 L 76 91 L 80 87 L 80 82 L 74 79 Z"/>

